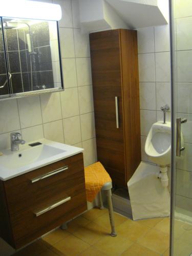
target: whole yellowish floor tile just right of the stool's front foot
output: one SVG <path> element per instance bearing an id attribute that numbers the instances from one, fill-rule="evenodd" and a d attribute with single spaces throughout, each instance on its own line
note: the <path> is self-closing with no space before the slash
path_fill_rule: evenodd
<path id="1" fill-rule="evenodd" d="M 150 227 L 139 224 L 138 222 L 127 220 L 117 227 L 117 234 L 135 242 L 150 229 Z"/>

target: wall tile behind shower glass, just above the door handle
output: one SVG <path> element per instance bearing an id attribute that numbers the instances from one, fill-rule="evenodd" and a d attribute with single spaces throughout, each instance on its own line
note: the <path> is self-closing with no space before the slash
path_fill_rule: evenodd
<path id="1" fill-rule="evenodd" d="M 177 84 L 177 112 L 192 114 L 192 83 Z"/>

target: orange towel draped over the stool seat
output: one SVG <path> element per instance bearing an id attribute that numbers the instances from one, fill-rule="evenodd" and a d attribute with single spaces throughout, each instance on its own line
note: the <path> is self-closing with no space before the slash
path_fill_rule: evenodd
<path id="1" fill-rule="evenodd" d="M 86 178 L 87 200 L 92 202 L 102 186 L 107 182 L 112 182 L 112 180 L 100 162 L 93 163 L 84 168 L 84 174 Z"/>

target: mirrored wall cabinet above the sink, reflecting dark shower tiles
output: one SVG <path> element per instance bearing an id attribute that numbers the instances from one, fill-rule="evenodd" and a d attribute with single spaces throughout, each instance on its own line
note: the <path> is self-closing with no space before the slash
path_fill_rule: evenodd
<path id="1" fill-rule="evenodd" d="M 0 98 L 63 90 L 58 22 L 1 17 Z"/>

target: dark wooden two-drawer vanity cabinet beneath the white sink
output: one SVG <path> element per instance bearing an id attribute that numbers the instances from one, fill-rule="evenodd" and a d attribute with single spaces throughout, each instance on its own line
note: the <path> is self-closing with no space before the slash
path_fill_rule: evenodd
<path id="1" fill-rule="evenodd" d="M 16 249 L 86 209 L 82 153 L 0 181 L 0 235 Z"/>

